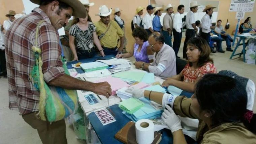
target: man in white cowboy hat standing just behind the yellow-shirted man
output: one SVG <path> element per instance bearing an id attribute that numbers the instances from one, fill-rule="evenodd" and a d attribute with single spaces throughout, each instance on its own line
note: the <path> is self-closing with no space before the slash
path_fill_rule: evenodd
<path id="1" fill-rule="evenodd" d="M 125 37 L 125 28 L 124 28 L 124 20 L 120 17 L 121 16 L 121 11 L 118 7 L 115 8 L 115 17 L 114 20 L 118 23 L 118 25 L 123 29 L 124 31 L 124 49 L 123 49 L 123 53 L 127 53 L 126 52 L 126 44 L 127 44 L 127 40 Z"/>

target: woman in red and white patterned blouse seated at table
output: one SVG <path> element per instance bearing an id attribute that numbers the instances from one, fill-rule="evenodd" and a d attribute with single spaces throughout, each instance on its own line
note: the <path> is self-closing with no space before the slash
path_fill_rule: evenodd
<path id="1" fill-rule="evenodd" d="M 173 85 L 188 92 L 194 92 L 196 82 L 207 73 L 217 73 L 210 58 L 211 49 L 203 38 L 191 38 L 187 42 L 188 64 L 178 75 L 166 78 L 162 86 Z"/>

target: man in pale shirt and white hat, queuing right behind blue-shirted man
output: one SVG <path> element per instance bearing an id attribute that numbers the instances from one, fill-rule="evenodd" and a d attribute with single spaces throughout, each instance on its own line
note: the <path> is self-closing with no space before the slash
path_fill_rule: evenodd
<path id="1" fill-rule="evenodd" d="M 173 25 L 173 16 L 171 16 L 171 14 L 173 13 L 172 11 L 172 6 L 169 3 L 166 8 L 166 14 L 164 15 L 163 18 L 163 30 L 162 30 L 162 34 L 164 36 L 164 43 L 171 46 L 171 32 L 172 32 L 172 25 Z"/>

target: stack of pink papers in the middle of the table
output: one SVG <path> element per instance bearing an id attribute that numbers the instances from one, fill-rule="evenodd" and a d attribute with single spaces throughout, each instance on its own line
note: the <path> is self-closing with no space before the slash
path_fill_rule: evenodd
<path id="1" fill-rule="evenodd" d="M 116 94 L 117 90 L 119 90 L 119 89 L 121 89 L 123 87 L 129 87 L 130 86 L 126 82 L 122 81 L 120 78 L 116 78 L 116 77 L 112 77 L 112 76 L 108 76 L 108 77 L 105 77 L 103 79 L 96 80 L 94 82 L 95 83 L 98 83 L 98 82 L 108 82 L 110 87 L 111 87 L 111 89 L 112 89 L 112 94 L 111 95 Z"/>

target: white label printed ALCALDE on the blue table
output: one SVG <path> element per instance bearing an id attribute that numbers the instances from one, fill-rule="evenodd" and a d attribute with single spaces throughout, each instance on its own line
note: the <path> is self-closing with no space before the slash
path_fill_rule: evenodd
<path id="1" fill-rule="evenodd" d="M 103 126 L 116 122 L 116 119 L 104 108 L 94 112 Z"/>

